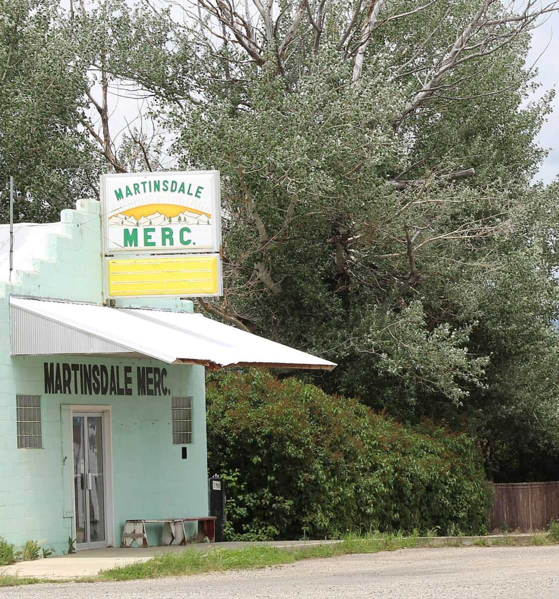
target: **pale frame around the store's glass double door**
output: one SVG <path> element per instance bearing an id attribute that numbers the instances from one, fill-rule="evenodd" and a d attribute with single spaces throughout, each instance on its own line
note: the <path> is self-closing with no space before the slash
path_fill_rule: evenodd
<path id="1" fill-rule="evenodd" d="M 113 498 L 113 434 L 111 431 L 111 410 L 113 406 L 95 406 L 89 404 L 72 404 L 70 406 L 70 437 L 73 438 L 73 418 L 75 412 L 96 412 L 103 415 L 103 469 L 104 479 L 104 501 L 105 501 L 105 537 L 104 541 L 87 543 L 87 547 L 76 547 L 76 550 L 101 549 L 102 547 L 114 547 L 114 498 Z M 74 465 L 72 461 L 72 506 L 74 518 L 72 518 L 72 539 L 76 539 L 75 532 L 75 490 L 74 490 Z M 77 544 L 77 543 L 76 543 Z"/>

